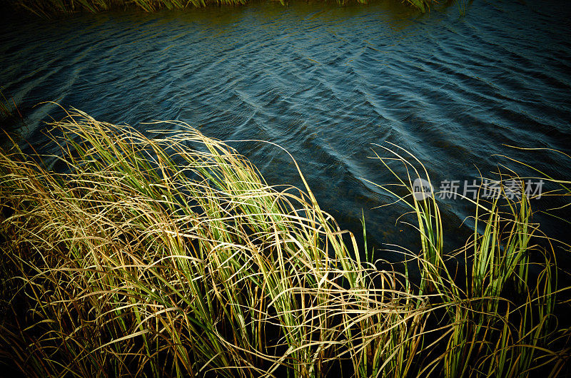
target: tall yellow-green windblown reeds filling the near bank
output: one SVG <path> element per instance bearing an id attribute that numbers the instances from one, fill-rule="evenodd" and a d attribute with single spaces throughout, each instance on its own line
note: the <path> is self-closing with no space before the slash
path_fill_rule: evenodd
<path id="1" fill-rule="evenodd" d="M 523 191 L 473 203 L 476 231 L 450 252 L 437 200 L 411 195 L 420 162 L 379 150 L 408 172 L 387 190 L 416 220 L 413 273 L 373 260 L 366 220 L 340 230 L 307 185 L 268 186 L 182 123 L 151 138 L 74 111 L 52 126 L 58 158 L 0 153 L 0 360 L 27 377 L 568 368 L 565 273 Z"/>

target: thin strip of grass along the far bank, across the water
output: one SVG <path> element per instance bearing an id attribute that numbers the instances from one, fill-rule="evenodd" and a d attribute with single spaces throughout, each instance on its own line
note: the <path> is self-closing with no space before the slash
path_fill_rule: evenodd
<path id="1" fill-rule="evenodd" d="M 287 0 L 276 0 L 286 5 Z M 367 0 L 335 0 L 338 4 L 366 4 Z M 392 0 L 398 1 L 398 0 Z M 24 9 L 44 17 L 51 18 L 57 14 L 74 14 L 77 12 L 101 12 L 111 9 L 134 8 L 151 12 L 160 9 L 185 9 L 189 7 L 201 8 L 207 5 L 243 5 L 249 0 L 12 0 L 6 4 L 15 9 Z M 434 0 L 404 0 L 405 4 L 428 11 L 431 4 L 437 4 Z"/>

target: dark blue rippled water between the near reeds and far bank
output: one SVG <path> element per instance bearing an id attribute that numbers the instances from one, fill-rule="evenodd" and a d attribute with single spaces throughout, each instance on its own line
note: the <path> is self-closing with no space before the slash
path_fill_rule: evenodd
<path id="1" fill-rule="evenodd" d="M 364 214 L 370 241 L 410 245 L 408 226 L 395 227 L 406 208 L 375 208 L 395 198 L 368 180 L 395 178 L 370 159 L 372 148 L 382 153 L 373 143 L 414 153 L 437 189 L 443 180 L 471 182 L 477 168 L 490 176 L 499 163 L 530 174 L 495 154 L 571 178 L 570 158 L 505 147 L 571 153 L 570 16 L 565 1 L 479 0 L 465 17 L 456 6 L 419 14 L 383 1 L 6 19 L 0 83 L 26 114 L 28 126 L 16 131 L 34 145 L 44 141 L 41 121 L 61 116 L 54 104 L 33 107 L 41 101 L 140 129 L 181 120 L 206 136 L 278 143 L 343 228 L 358 232 Z M 281 150 L 231 144 L 269 183 L 301 186 Z M 440 203 L 457 246 L 473 207 Z M 534 219 L 570 240 L 560 221 Z"/>

